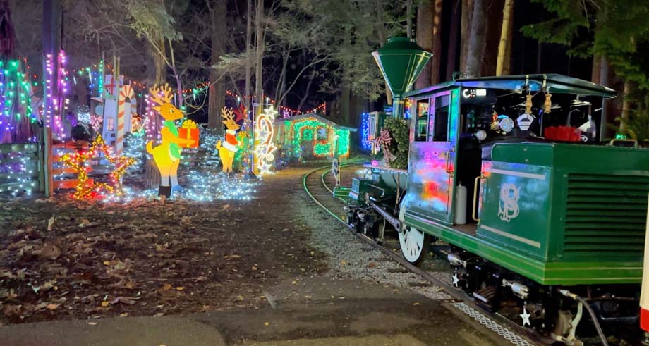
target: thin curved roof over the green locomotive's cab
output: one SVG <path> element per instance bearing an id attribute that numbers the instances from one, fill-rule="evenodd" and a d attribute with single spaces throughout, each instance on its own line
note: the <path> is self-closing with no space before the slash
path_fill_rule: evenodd
<path id="1" fill-rule="evenodd" d="M 617 94 L 614 89 L 589 82 L 588 80 L 550 73 L 546 75 L 501 75 L 497 77 L 450 80 L 449 82 L 432 85 L 424 89 L 407 92 L 405 96 L 410 97 L 417 94 L 425 94 L 448 87 L 522 90 L 527 86 L 531 92 L 538 92 L 543 89 L 544 85 L 546 88 L 550 88 L 550 93 L 596 95 L 601 97 L 615 97 Z"/>

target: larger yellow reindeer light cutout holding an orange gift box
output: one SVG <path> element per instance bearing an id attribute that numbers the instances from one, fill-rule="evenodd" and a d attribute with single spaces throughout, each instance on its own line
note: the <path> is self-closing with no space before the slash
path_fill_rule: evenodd
<path id="1" fill-rule="evenodd" d="M 147 152 L 153 155 L 156 166 L 160 171 L 160 188 L 158 195 L 171 197 L 171 190 L 179 190 L 178 185 L 178 164 L 181 163 L 181 147 L 178 144 L 193 144 L 195 140 L 186 140 L 178 137 L 178 128 L 174 121 L 183 118 L 184 114 L 176 106 L 171 104 L 171 87 L 168 84 L 164 88 L 153 87 L 149 89 L 151 99 L 158 106 L 153 109 L 164 118 L 162 130 L 162 143 L 153 147 L 153 141 L 147 143 Z"/>

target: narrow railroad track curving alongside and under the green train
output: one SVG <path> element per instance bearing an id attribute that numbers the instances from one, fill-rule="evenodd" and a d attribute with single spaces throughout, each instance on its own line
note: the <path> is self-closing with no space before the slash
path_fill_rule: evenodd
<path id="1" fill-rule="evenodd" d="M 349 163 L 341 164 L 341 174 L 344 170 L 351 168 L 353 166 L 358 166 L 362 163 Z M 404 257 L 401 256 L 401 252 L 394 252 L 390 248 L 395 248 L 394 246 L 382 246 L 377 244 L 374 240 L 369 237 L 353 231 L 347 224 L 345 214 L 343 211 L 344 200 L 336 199 L 333 197 L 333 188 L 335 184 L 334 178 L 331 175 L 331 167 L 324 166 L 320 168 L 315 168 L 313 171 L 306 173 L 303 176 L 303 187 L 307 192 L 309 197 L 313 199 L 318 206 L 320 206 L 324 211 L 327 212 L 330 216 L 335 218 L 340 223 L 346 225 L 350 232 L 353 235 L 356 235 L 360 240 L 363 240 L 368 245 L 374 247 L 375 249 L 380 250 L 386 257 L 394 261 L 399 262 L 401 266 L 406 268 L 408 272 L 416 273 L 424 280 L 439 286 L 447 292 L 453 299 L 449 301 L 449 305 L 456 309 L 456 313 L 460 312 L 461 314 L 466 314 L 471 317 L 473 321 L 480 323 L 480 325 L 485 326 L 487 329 L 492 330 L 501 336 L 504 340 L 507 340 L 511 345 L 516 346 L 536 346 L 536 345 L 545 345 L 545 342 L 542 342 L 540 336 L 533 331 L 528 330 L 518 326 L 516 323 L 510 321 L 509 319 L 501 316 L 499 314 L 493 314 L 489 311 L 478 307 L 473 300 L 469 299 L 466 294 L 457 288 L 449 285 L 447 281 L 440 279 L 438 276 L 435 276 L 435 272 L 427 271 L 418 266 L 413 266 L 410 264 Z M 394 245 L 395 241 L 387 240 L 386 244 Z M 399 241 L 396 240 L 396 249 L 399 249 Z"/>

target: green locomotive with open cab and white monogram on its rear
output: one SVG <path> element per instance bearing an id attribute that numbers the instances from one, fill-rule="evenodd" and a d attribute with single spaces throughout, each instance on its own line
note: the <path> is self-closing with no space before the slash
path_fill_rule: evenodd
<path id="1" fill-rule="evenodd" d="M 384 61 L 384 75 L 399 68 Z M 392 224 L 415 264 L 432 240 L 448 243 L 454 286 L 552 340 L 578 345 L 579 327 L 637 341 L 649 151 L 605 140 L 614 90 L 516 75 L 397 94 L 411 101 L 407 174 L 368 168 L 348 221 L 365 233 Z"/>

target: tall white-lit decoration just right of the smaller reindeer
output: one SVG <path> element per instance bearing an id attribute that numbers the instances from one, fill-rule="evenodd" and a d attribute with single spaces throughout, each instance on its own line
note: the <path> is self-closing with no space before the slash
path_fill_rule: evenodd
<path id="1" fill-rule="evenodd" d="M 273 109 L 273 106 L 270 106 L 255 120 L 255 149 L 253 153 L 255 154 L 255 168 L 259 175 L 271 173 L 270 167 L 275 161 L 273 153 L 277 147 L 273 143 L 273 120 L 276 115 L 277 111 Z"/>

